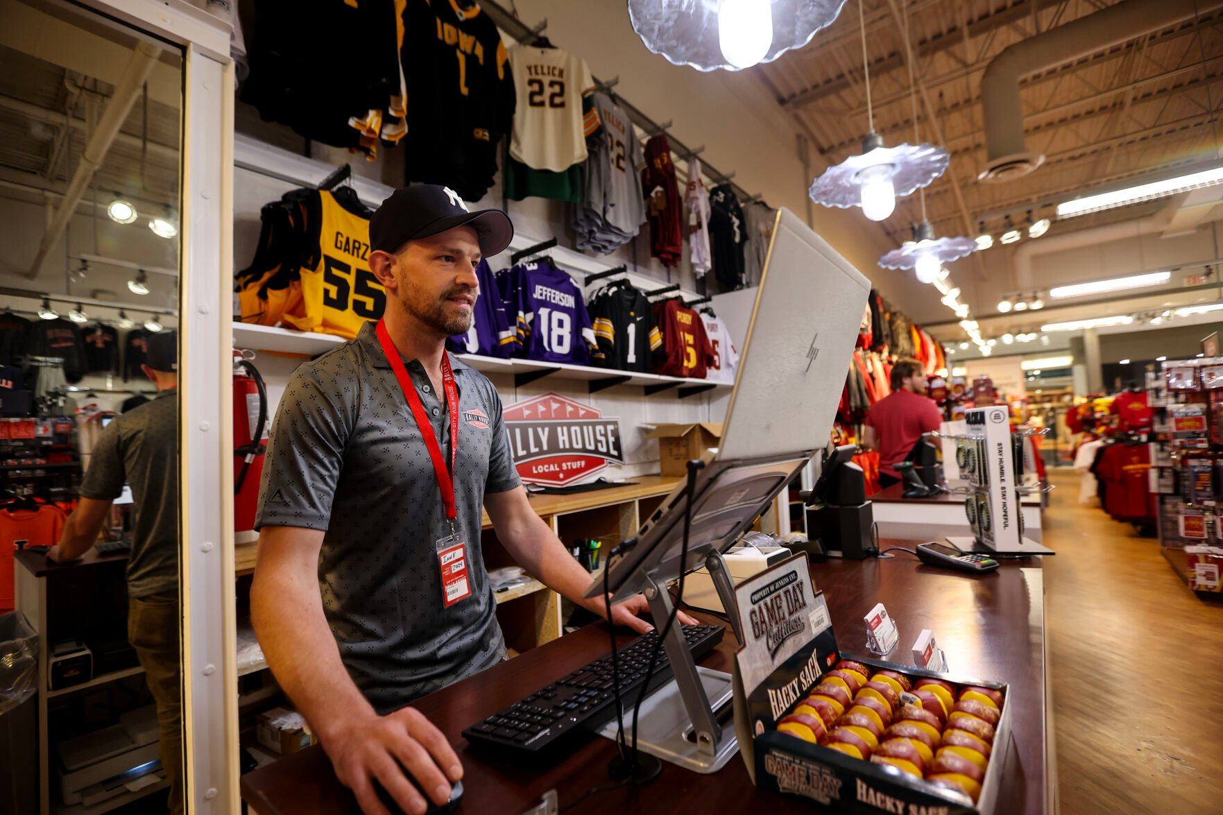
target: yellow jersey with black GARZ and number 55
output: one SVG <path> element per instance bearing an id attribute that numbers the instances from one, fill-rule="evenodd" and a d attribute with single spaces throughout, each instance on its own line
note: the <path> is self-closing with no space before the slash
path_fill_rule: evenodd
<path id="1" fill-rule="evenodd" d="M 355 339 L 386 307 L 386 292 L 369 270 L 369 217 L 327 190 L 314 192 L 317 231 L 302 258 L 301 302 L 285 310 L 284 321 L 303 332 Z"/>

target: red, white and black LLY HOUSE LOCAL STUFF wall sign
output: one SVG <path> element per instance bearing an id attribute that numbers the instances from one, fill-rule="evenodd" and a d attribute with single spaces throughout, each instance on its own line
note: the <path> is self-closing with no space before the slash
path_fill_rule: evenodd
<path id="1" fill-rule="evenodd" d="M 572 399 L 545 393 L 505 409 L 505 430 L 519 476 L 565 487 L 624 463 L 620 420 Z"/>

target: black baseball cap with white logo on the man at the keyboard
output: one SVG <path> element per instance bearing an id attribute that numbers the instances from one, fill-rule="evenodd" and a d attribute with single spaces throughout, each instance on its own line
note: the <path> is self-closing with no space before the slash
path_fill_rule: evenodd
<path id="1" fill-rule="evenodd" d="M 471 226 L 479 251 L 492 257 L 510 245 L 514 224 L 500 209 L 471 212 L 450 187 L 416 184 L 390 193 L 369 219 L 369 248 L 394 252 L 407 241 Z"/>

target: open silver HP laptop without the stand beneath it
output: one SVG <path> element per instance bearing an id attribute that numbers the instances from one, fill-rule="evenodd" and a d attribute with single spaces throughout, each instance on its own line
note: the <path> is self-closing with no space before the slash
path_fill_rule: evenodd
<path id="1" fill-rule="evenodd" d="M 722 442 L 706 454 L 682 565 L 685 485 L 643 519 L 635 547 L 608 559 L 615 600 L 671 580 L 734 545 L 828 443 L 870 281 L 789 209 L 779 209 L 756 292 Z M 603 594 L 596 575 L 587 597 Z"/>

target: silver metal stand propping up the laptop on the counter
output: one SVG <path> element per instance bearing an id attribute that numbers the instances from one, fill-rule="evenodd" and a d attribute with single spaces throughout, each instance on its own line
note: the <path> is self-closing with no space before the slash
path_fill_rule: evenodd
<path id="1" fill-rule="evenodd" d="M 735 587 L 726 570 L 722 553 L 714 551 L 706 557 L 706 568 L 713 578 L 723 608 L 731 620 L 731 629 L 739 641 L 742 631 Z M 649 575 L 646 589 L 649 612 L 656 622 L 667 620 L 671 614 L 671 596 L 667 581 Z M 739 753 L 739 740 L 733 726 L 722 727 L 714 710 L 730 704 L 734 688 L 730 674 L 724 671 L 700 668 L 687 649 L 682 628 L 676 623 L 663 640 L 667 658 L 675 678 L 651 693 L 641 702 L 637 720 L 637 749 L 652 756 L 700 773 L 722 770 Z M 712 705 L 711 705 L 712 700 Z M 636 695 L 630 694 L 625 704 L 625 738 L 632 743 L 632 705 Z M 618 724 L 613 717 L 599 734 L 615 740 Z"/>

